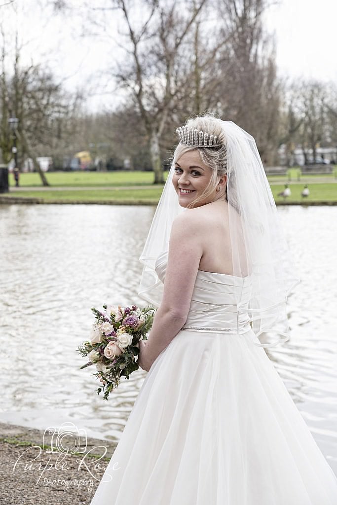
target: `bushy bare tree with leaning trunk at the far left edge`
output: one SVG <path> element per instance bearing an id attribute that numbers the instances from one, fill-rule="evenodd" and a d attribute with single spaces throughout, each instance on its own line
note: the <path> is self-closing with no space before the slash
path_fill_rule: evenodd
<path id="1" fill-rule="evenodd" d="M 50 156 L 55 143 L 67 136 L 67 123 L 80 99 L 65 93 L 62 83 L 56 82 L 52 73 L 42 65 L 20 65 L 20 47 L 16 36 L 12 74 L 6 71 L 6 44 L 4 31 L 2 69 L 0 76 L 0 147 L 6 163 L 11 159 L 11 138 L 8 118 L 18 121 L 17 138 L 21 165 L 31 158 L 42 184 L 49 185 L 36 161 L 37 156 Z"/>

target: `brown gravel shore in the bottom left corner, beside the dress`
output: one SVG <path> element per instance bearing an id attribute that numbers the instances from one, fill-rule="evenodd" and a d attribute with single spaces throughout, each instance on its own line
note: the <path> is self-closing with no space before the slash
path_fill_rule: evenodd
<path id="1" fill-rule="evenodd" d="M 115 447 L 0 423 L 0 504 L 89 504 Z"/>

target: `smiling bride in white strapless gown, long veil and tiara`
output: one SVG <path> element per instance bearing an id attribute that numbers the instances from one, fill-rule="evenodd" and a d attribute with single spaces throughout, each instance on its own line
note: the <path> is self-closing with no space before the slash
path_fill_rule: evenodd
<path id="1" fill-rule="evenodd" d="M 299 282 L 254 138 L 212 115 L 179 144 L 140 261 L 148 371 L 91 505 L 335 505 L 337 479 L 263 347 Z"/>

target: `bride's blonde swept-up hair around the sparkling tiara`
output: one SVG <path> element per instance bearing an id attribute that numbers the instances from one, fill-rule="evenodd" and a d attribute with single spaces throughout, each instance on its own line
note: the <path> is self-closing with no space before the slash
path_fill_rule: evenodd
<path id="1" fill-rule="evenodd" d="M 188 119 L 185 123 L 188 128 L 207 132 L 208 136 L 216 135 L 217 141 L 221 144 L 218 147 L 194 147 L 183 144 L 178 144 L 173 155 L 173 163 L 191 150 L 198 151 L 202 162 L 212 169 L 211 179 L 203 191 L 203 193 L 195 200 L 187 205 L 187 208 L 194 207 L 196 203 L 210 196 L 218 184 L 218 177 L 221 178 L 227 174 L 227 148 L 226 138 L 222 128 L 222 121 L 211 114 L 197 116 L 196 118 Z M 227 192 L 226 192 L 227 198 Z"/>

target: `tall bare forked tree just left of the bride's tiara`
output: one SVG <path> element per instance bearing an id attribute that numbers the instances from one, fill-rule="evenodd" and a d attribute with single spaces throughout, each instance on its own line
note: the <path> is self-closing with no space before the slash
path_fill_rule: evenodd
<path id="1" fill-rule="evenodd" d="M 116 62 L 113 77 L 117 86 L 128 94 L 127 100 L 133 97 L 132 102 L 144 125 L 155 184 L 164 182 L 160 139 L 181 89 L 177 68 L 181 68 L 184 43 L 205 4 L 206 0 L 179 3 L 149 0 L 143 2 L 139 19 L 128 0 L 111 0 L 110 3 L 110 9 L 121 16 L 124 27 L 119 47 L 125 58 L 123 62 Z M 106 14 L 108 6 L 103 9 Z"/>

